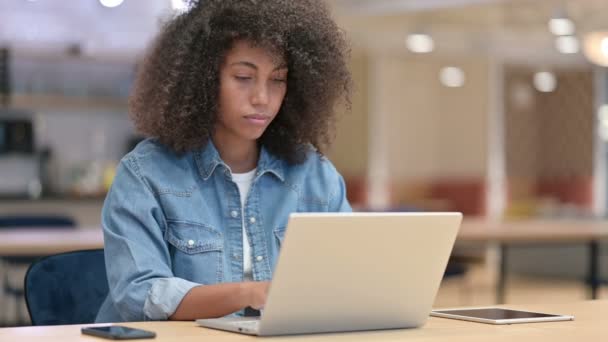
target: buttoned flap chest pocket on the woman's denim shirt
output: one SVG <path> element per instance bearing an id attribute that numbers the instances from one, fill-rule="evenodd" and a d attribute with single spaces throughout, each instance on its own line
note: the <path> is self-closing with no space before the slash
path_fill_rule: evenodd
<path id="1" fill-rule="evenodd" d="M 220 231 L 201 223 L 168 221 L 165 239 L 175 276 L 207 285 L 222 281 L 224 239 Z"/>

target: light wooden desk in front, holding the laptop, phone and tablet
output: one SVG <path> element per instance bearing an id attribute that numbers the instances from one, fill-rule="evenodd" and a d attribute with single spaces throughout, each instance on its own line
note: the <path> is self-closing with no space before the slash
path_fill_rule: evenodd
<path id="1" fill-rule="evenodd" d="M 524 310 L 572 314 L 574 321 L 529 323 L 514 325 L 489 325 L 446 318 L 429 318 L 427 324 L 418 329 L 399 329 L 335 334 L 282 336 L 272 338 L 279 341 L 450 341 L 450 342 L 495 342 L 495 341 L 603 341 L 606 339 L 605 320 L 608 316 L 608 301 L 588 301 L 572 304 L 517 305 L 507 306 Z M 155 331 L 157 337 L 151 341 L 260 341 L 260 338 L 222 332 L 198 327 L 194 322 L 137 322 L 124 323 L 134 328 Z M 48 327 L 22 327 L 0 329 L 0 341 L 104 341 L 80 333 L 81 325 Z"/>

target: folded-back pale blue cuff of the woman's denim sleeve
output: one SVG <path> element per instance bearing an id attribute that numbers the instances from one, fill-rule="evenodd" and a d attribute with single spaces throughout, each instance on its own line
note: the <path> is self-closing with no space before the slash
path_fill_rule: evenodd
<path id="1" fill-rule="evenodd" d="M 144 303 L 144 316 L 151 321 L 164 321 L 173 315 L 184 296 L 200 284 L 182 278 L 160 278 L 154 281 Z"/>

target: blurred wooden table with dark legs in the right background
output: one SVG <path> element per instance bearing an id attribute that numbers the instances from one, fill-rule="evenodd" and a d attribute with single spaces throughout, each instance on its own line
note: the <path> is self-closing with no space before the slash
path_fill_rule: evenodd
<path id="1" fill-rule="evenodd" d="M 497 243 L 500 265 L 496 289 L 498 303 L 504 303 L 508 247 L 513 245 L 584 243 L 589 249 L 588 279 L 591 299 L 597 298 L 600 279 L 601 240 L 608 239 L 606 220 L 517 220 L 489 222 L 465 220 L 458 233 L 458 242 Z"/>

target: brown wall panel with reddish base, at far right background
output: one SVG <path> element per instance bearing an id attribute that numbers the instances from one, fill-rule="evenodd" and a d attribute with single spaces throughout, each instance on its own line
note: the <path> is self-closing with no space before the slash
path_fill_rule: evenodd
<path id="1" fill-rule="evenodd" d="M 555 70 L 557 88 L 532 87 L 537 69 L 505 69 L 506 172 L 510 214 L 534 214 L 536 202 L 593 204 L 593 76 L 590 69 Z M 526 207 L 529 207 L 526 209 Z"/>

